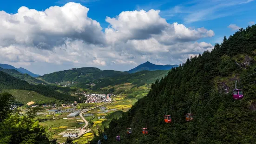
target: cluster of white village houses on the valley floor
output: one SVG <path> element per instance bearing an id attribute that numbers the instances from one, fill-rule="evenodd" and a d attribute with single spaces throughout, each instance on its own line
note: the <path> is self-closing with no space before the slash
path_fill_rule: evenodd
<path id="1" fill-rule="evenodd" d="M 85 100 L 85 103 L 107 103 L 112 101 L 112 94 L 84 94 L 84 96 L 87 98 Z"/>

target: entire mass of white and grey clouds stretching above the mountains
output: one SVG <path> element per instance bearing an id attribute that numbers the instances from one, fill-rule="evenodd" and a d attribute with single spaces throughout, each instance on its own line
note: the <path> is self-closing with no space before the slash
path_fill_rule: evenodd
<path id="1" fill-rule="evenodd" d="M 20 7 L 15 14 L 0 11 L 0 61 L 31 64 L 25 66 L 30 70 L 35 64 L 47 63 L 52 68 L 94 66 L 125 71 L 145 61 L 179 64 L 213 48 L 209 43 L 197 42 L 213 37 L 212 30 L 167 23 L 158 10 L 126 11 L 114 18 L 106 17 L 109 26 L 105 30 L 87 16 L 88 12 L 89 8 L 73 2 L 45 11 L 27 7 Z M 56 67 L 59 70 L 61 66 Z M 34 70 L 39 74 L 53 72 Z"/>

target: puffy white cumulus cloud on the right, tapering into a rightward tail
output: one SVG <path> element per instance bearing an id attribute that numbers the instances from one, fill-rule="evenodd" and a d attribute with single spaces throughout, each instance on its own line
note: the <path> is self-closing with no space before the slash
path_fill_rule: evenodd
<path id="1" fill-rule="evenodd" d="M 204 27 L 189 29 L 183 24 L 169 24 L 159 15 L 159 10 L 126 11 L 120 13 L 117 18 L 106 18 L 111 28 L 105 29 L 107 41 L 143 40 L 156 38 L 165 44 L 177 41 L 195 41 L 204 37 L 213 37 L 212 30 Z"/>

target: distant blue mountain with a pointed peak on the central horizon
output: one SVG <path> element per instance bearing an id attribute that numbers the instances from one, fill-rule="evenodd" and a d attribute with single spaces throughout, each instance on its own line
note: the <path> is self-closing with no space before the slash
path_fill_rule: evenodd
<path id="1" fill-rule="evenodd" d="M 134 73 L 134 72 L 140 72 L 140 71 L 156 71 L 156 70 L 171 70 L 173 67 L 177 67 L 178 65 L 155 65 L 150 63 L 149 61 L 138 65 L 137 67 L 127 71 L 129 73 Z"/>

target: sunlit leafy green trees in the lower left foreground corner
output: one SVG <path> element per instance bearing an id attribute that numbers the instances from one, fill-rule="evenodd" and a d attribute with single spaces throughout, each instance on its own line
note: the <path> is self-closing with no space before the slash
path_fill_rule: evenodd
<path id="1" fill-rule="evenodd" d="M 15 97 L 0 93 L 0 144 L 57 144 L 47 130 L 34 120 L 37 108 L 26 113 L 10 110 Z"/>

